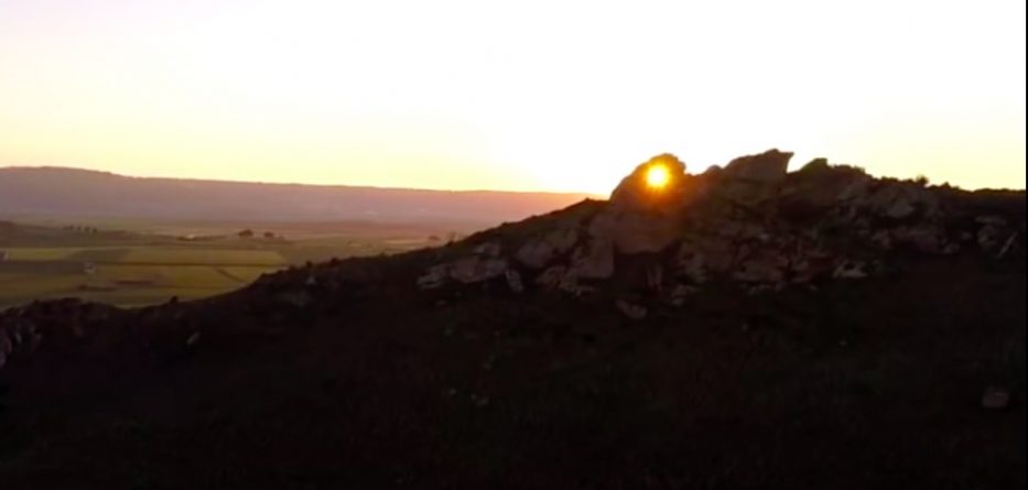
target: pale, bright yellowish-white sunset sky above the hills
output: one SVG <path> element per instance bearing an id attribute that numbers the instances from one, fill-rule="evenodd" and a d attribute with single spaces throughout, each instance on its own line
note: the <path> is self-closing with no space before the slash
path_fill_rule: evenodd
<path id="1" fill-rule="evenodd" d="M 1024 0 L 0 0 L 0 166 L 606 194 L 779 148 L 1025 188 Z"/>

